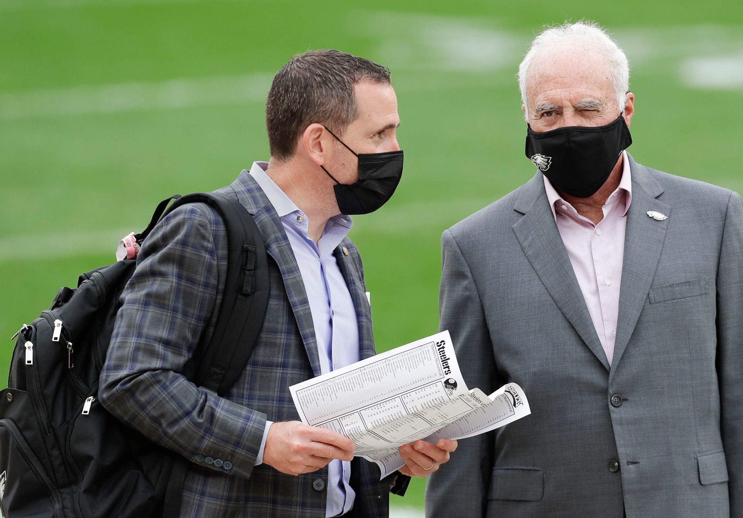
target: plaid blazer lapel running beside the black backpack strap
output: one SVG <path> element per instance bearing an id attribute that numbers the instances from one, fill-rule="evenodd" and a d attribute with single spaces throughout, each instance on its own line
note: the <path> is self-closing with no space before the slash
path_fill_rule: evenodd
<path id="1" fill-rule="evenodd" d="M 299 334 L 302 335 L 302 342 L 305 345 L 312 372 L 315 376 L 319 376 L 322 372 L 310 302 L 284 225 L 279 215 L 276 214 L 276 210 L 268 202 L 265 193 L 247 171 L 241 172 L 230 187 L 235 191 L 241 204 L 253 214 L 253 219 L 263 236 L 266 252 L 276 261 L 276 265 L 279 265 L 286 294 L 299 327 Z"/>

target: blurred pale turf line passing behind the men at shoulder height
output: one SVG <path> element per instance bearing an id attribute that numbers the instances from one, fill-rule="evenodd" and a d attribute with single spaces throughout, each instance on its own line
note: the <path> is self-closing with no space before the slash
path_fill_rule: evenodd
<path id="1" fill-rule="evenodd" d="M 377 233 L 400 233 L 429 230 L 438 237 L 457 221 L 476 210 L 490 204 L 493 199 L 452 199 L 444 204 L 441 201 L 424 201 L 383 207 L 368 216 L 354 216 L 354 232 L 371 231 Z M 144 220 L 143 220 L 144 221 Z M 116 247 L 120 239 L 134 230 L 73 230 L 70 232 L 10 235 L 0 238 L 0 261 L 22 259 L 44 259 L 111 253 L 111 262 L 116 260 Z"/>

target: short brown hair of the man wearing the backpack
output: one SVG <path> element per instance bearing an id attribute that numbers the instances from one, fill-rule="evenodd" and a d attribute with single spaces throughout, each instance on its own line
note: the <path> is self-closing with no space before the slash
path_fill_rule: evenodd
<path id="1" fill-rule="evenodd" d="M 340 51 L 294 56 L 276 73 L 266 100 L 271 156 L 291 158 L 299 136 L 312 123 L 343 133 L 358 116 L 354 84 L 361 80 L 389 83 L 389 70 Z"/>

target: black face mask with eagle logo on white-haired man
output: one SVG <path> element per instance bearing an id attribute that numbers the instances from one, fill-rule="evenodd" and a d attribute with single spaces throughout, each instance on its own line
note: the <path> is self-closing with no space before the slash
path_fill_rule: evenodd
<path id="1" fill-rule="evenodd" d="M 568 126 L 542 133 L 528 126 L 526 158 L 555 187 L 576 198 L 589 198 L 609 178 L 620 153 L 631 143 L 621 114 L 606 126 Z"/>

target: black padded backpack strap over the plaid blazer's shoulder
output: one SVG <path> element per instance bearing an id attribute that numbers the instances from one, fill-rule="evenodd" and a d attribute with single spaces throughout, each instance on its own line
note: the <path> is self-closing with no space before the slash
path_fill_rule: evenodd
<path id="1" fill-rule="evenodd" d="M 162 203 L 167 204 L 169 199 Z M 227 277 L 221 306 L 214 334 L 204 349 L 195 379 L 197 386 L 224 395 L 243 372 L 263 326 L 270 291 L 266 248 L 253 216 L 245 207 L 236 199 L 215 192 L 182 196 L 163 217 L 187 203 L 209 204 L 219 213 L 227 229 Z M 148 230 L 152 229 L 148 227 Z M 143 233 L 145 236 L 148 230 Z M 163 518 L 180 515 L 189 465 L 190 462 L 181 456 L 173 463 Z"/>

